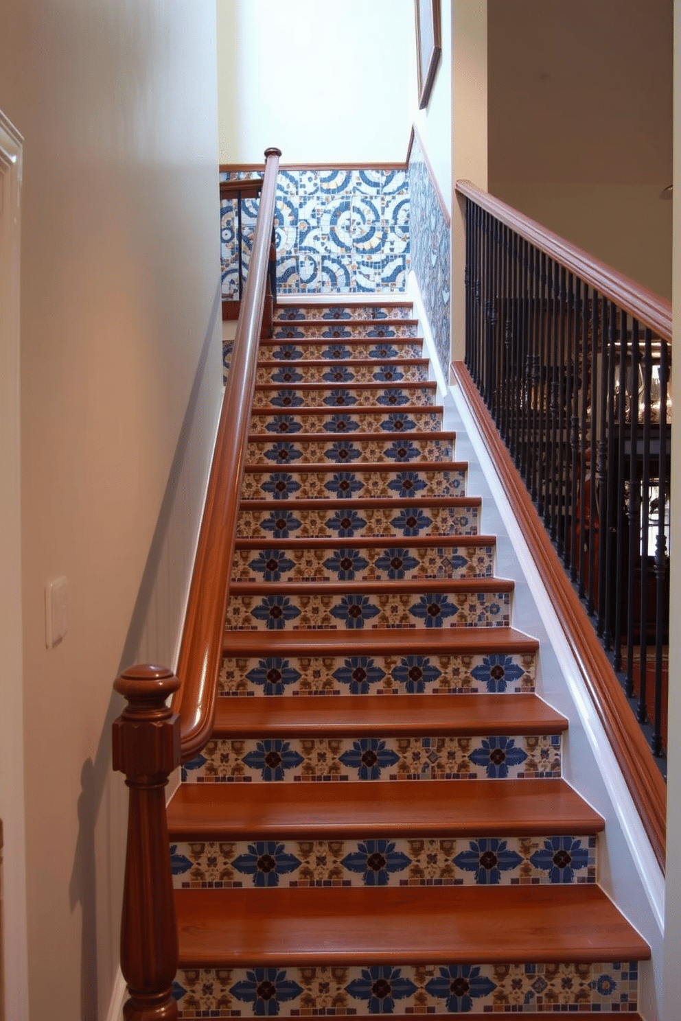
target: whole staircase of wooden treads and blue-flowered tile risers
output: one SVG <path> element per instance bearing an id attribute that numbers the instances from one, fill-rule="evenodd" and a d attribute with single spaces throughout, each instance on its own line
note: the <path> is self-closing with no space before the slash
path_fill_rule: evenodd
<path id="1" fill-rule="evenodd" d="M 260 345 L 221 698 L 168 808 L 181 1018 L 636 1018 L 648 947 L 404 304 Z"/>

